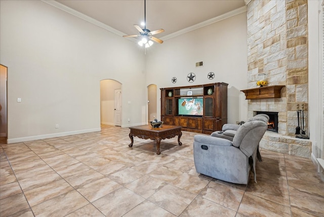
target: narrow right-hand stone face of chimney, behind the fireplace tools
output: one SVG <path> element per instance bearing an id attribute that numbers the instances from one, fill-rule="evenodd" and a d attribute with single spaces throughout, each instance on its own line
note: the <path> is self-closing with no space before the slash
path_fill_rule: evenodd
<path id="1" fill-rule="evenodd" d="M 308 29 L 307 0 L 287 1 L 287 131 L 294 135 L 296 110 L 304 105 L 308 132 Z"/>

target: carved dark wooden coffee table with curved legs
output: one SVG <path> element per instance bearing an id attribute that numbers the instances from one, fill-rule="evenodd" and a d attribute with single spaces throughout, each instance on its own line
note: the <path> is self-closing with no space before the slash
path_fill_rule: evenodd
<path id="1" fill-rule="evenodd" d="M 166 138 L 173 138 L 176 135 L 178 135 L 178 143 L 179 146 L 182 145 L 182 142 L 180 141 L 180 137 L 182 135 L 181 132 L 181 126 L 172 126 L 172 125 L 162 125 L 157 128 L 153 128 L 150 125 L 142 125 L 142 126 L 136 126 L 136 127 L 130 127 L 130 138 L 131 143 L 129 144 L 129 147 L 133 147 L 133 136 L 137 136 L 139 138 L 143 139 L 152 139 L 156 140 L 156 154 L 160 153 L 160 142 L 162 139 Z"/>

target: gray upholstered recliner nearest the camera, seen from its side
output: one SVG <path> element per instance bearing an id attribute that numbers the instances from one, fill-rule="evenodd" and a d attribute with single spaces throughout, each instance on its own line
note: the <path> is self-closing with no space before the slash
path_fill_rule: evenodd
<path id="1" fill-rule="evenodd" d="M 250 121 L 241 125 L 228 139 L 195 135 L 193 158 L 196 171 L 236 184 L 248 184 L 250 170 L 256 182 L 256 156 L 259 142 L 268 126 L 264 121 Z"/>

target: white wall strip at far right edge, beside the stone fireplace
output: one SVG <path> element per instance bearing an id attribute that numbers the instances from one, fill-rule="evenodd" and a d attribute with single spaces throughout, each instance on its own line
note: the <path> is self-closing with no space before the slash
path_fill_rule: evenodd
<path id="1" fill-rule="evenodd" d="M 308 65 L 309 65 L 309 130 L 312 142 L 312 160 L 324 159 L 324 1 L 308 1 Z"/>

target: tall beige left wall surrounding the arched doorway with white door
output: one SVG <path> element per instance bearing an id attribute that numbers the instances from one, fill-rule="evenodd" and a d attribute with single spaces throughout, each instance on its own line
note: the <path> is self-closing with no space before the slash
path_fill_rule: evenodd
<path id="1" fill-rule="evenodd" d="M 146 99 L 138 97 L 146 94 L 145 55 L 136 43 L 41 1 L 0 4 L 0 62 L 10 71 L 8 142 L 100 130 L 103 79 L 125 85 L 123 104 L 132 107 L 122 112 L 130 124 L 145 122 Z"/>

